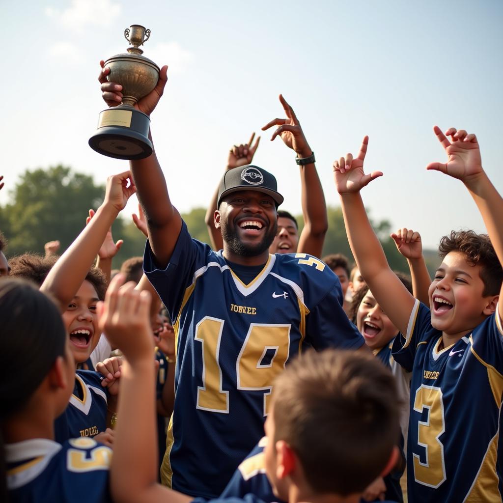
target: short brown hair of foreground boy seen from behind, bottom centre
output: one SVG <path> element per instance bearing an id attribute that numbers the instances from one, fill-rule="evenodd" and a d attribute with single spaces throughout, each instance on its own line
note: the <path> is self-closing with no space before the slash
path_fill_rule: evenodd
<path id="1" fill-rule="evenodd" d="M 362 492 L 399 438 L 395 380 L 371 354 L 307 351 L 275 381 L 275 441 L 299 457 L 318 494 Z"/>

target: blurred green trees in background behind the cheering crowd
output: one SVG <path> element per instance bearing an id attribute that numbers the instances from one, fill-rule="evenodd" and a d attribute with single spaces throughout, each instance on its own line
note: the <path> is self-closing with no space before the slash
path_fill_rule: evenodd
<path id="1" fill-rule="evenodd" d="M 0 206 L 0 231 L 8 239 L 7 257 L 20 255 L 26 251 L 44 253 L 47 241 L 58 239 L 60 253 L 75 239 L 86 224 L 89 209 L 97 209 L 103 202 L 105 187 L 96 184 L 92 176 L 75 173 L 68 166 L 50 166 L 48 169 L 27 170 L 14 186 L 9 183 L 2 190 L 9 191 L 10 202 Z M 182 214 L 193 237 L 209 242 L 204 223 L 206 208 L 194 208 Z M 353 261 L 346 237 L 344 220 L 340 207 L 328 207 L 328 232 L 325 237 L 323 255 L 342 253 Z M 298 217 L 302 228 L 302 217 Z M 389 264 L 393 269 L 408 273 L 407 263 L 397 252 L 389 237 L 389 221 L 372 221 L 381 240 Z M 114 239 L 123 239 L 119 253 L 114 258 L 113 267 L 119 268 L 130 257 L 141 256 L 145 246 L 143 234 L 132 220 L 121 216 L 112 226 Z M 426 250 L 425 250 L 426 251 Z M 435 269 L 435 255 L 426 254 L 430 269 Z"/>

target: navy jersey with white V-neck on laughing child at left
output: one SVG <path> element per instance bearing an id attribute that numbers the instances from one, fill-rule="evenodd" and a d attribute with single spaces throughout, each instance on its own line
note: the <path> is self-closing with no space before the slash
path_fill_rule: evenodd
<path id="1" fill-rule="evenodd" d="M 75 390 L 68 406 L 54 421 L 54 439 L 62 444 L 76 437 L 94 437 L 107 429 L 108 390 L 103 377 L 91 370 L 77 370 Z"/>

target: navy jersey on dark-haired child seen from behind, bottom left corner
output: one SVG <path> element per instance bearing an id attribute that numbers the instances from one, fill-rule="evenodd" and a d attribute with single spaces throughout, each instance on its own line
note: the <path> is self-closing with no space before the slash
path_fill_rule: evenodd
<path id="1" fill-rule="evenodd" d="M 106 503 L 112 451 L 90 438 L 6 445 L 11 503 Z"/>

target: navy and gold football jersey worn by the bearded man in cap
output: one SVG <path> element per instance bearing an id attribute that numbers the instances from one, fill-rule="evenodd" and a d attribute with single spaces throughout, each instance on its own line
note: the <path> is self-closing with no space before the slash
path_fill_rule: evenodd
<path id="1" fill-rule="evenodd" d="M 217 497 L 264 434 L 272 383 L 306 345 L 359 348 L 339 279 L 305 254 L 270 255 L 248 284 L 185 223 L 169 265 L 144 271 L 174 321 L 175 406 L 161 469 L 164 484 Z"/>

